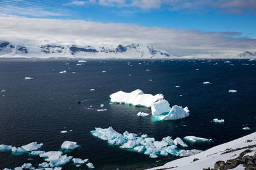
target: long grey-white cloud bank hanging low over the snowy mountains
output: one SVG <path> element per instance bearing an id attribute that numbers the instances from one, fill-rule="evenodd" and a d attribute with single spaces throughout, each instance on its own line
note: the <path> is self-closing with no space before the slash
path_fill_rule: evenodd
<path id="1" fill-rule="evenodd" d="M 154 45 L 177 56 L 223 55 L 256 50 L 256 39 L 237 38 L 239 32 L 143 27 L 135 24 L 103 24 L 84 20 L 0 17 L 0 39 L 28 45 Z M 236 38 L 234 38 L 236 36 Z"/>

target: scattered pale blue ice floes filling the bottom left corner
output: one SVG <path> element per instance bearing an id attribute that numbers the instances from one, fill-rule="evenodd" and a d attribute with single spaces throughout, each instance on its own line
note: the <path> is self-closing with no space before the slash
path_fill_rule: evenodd
<path id="1" fill-rule="evenodd" d="M 41 164 L 38 164 L 37 169 L 58 170 L 58 169 L 62 169 L 62 166 L 64 166 L 65 164 L 71 161 L 74 163 L 76 167 L 80 167 L 87 162 L 86 166 L 88 168 L 90 169 L 94 168 L 93 164 L 89 162 L 88 159 L 79 159 L 79 158 L 74 158 L 72 156 L 63 155 L 62 151 L 74 150 L 77 147 L 79 147 L 79 145 L 77 145 L 76 142 L 64 141 L 61 145 L 62 151 L 45 152 L 45 151 L 39 150 L 40 148 L 42 148 L 42 146 L 43 146 L 42 143 L 38 144 L 36 142 L 32 142 L 32 143 L 29 143 L 28 145 L 23 145 L 18 148 L 12 145 L 0 145 L 0 152 L 12 151 L 12 153 L 29 153 L 29 156 L 41 157 L 44 159 L 44 162 L 42 162 Z M 36 168 L 33 167 L 31 163 L 25 163 L 20 167 L 15 167 L 14 169 L 22 170 L 22 169 L 36 169 Z M 8 168 L 5 168 L 4 170 L 8 170 Z"/>

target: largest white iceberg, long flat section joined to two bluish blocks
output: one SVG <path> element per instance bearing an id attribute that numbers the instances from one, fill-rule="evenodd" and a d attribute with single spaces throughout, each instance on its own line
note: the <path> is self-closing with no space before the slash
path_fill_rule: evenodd
<path id="1" fill-rule="evenodd" d="M 182 108 L 174 105 L 172 108 L 168 101 L 164 99 L 163 94 L 144 94 L 142 90 L 134 90 L 130 93 L 123 91 L 111 94 L 112 103 L 132 104 L 134 106 L 145 106 L 151 108 L 151 113 L 159 120 L 176 120 L 189 116 L 188 107 Z"/>

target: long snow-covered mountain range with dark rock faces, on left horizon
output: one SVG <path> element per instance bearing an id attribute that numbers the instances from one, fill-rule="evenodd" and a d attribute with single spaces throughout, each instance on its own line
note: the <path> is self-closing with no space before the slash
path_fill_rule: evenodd
<path id="1" fill-rule="evenodd" d="M 158 50 L 154 46 L 131 44 L 112 46 L 78 46 L 78 45 L 16 45 L 0 41 L 0 57 L 68 57 L 92 59 L 168 59 L 170 53 Z"/>

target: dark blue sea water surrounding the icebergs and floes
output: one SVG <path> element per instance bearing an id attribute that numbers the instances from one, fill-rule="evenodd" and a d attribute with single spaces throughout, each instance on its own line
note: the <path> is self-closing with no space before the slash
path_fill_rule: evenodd
<path id="1" fill-rule="evenodd" d="M 76 66 L 77 60 L 0 60 L 0 90 L 6 90 L 0 92 L 0 144 L 21 146 L 37 141 L 44 143 L 43 150 L 50 151 L 59 150 L 65 140 L 76 141 L 81 148 L 68 155 L 90 159 L 95 169 L 145 168 L 177 159 L 150 159 L 109 146 L 90 134 L 95 127 L 112 126 L 120 133 L 148 134 L 156 140 L 190 135 L 214 140 L 189 144 L 189 149 L 206 150 L 220 145 L 256 130 L 256 61 L 230 61 L 234 66 L 223 60 L 88 60 L 85 66 Z M 63 70 L 67 73 L 58 73 Z M 35 80 L 24 80 L 25 76 Z M 211 84 L 204 85 L 204 81 Z M 136 89 L 164 94 L 171 105 L 188 106 L 189 117 L 152 122 L 151 116 L 136 117 L 138 111 L 150 113 L 148 108 L 109 104 L 109 94 Z M 228 93 L 229 89 L 236 89 L 237 93 Z M 83 102 L 77 104 L 78 101 Z M 97 111 L 102 109 L 100 104 L 108 111 Z M 92 109 L 88 109 L 90 105 Z M 223 118 L 225 123 L 212 123 L 213 118 Z M 252 130 L 243 131 L 243 127 Z M 70 129 L 73 131 L 60 134 Z M 26 162 L 37 167 L 43 160 L 28 154 L 0 152 L 0 169 Z M 64 169 L 76 167 L 69 163 Z"/>

